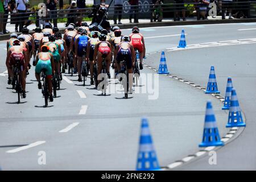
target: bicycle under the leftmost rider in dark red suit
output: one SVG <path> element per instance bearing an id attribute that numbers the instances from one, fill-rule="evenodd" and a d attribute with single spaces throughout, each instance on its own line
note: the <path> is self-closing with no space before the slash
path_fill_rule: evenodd
<path id="1" fill-rule="evenodd" d="M 19 61 L 14 65 L 14 76 L 13 76 L 13 89 L 18 93 L 18 104 L 20 104 L 20 97 L 22 97 L 22 85 L 20 83 L 20 64 Z"/>

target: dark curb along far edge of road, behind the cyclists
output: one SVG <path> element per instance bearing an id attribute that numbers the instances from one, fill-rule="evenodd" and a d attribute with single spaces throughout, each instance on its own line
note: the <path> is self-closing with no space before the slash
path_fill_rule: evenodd
<path id="1" fill-rule="evenodd" d="M 113 24 L 112 26 L 119 26 L 121 29 L 133 28 L 135 25 L 140 28 L 144 27 L 163 27 L 163 26 L 183 26 L 183 25 L 193 25 L 193 24 L 223 24 L 223 23 L 251 23 L 256 22 L 256 18 L 247 19 L 217 19 L 217 20 L 193 20 L 193 21 L 180 21 L 180 22 L 148 22 L 148 23 L 126 23 L 126 24 Z M 64 32 L 64 28 L 60 28 L 61 34 Z M 31 31 L 30 34 L 33 34 Z M 20 35 L 21 33 L 18 33 Z M 0 35 L 1 40 L 8 40 L 10 34 Z"/>

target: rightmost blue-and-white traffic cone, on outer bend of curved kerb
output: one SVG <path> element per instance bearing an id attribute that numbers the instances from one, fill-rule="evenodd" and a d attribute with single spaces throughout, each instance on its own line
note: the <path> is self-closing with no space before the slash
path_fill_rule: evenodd
<path id="1" fill-rule="evenodd" d="M 237 100 L 236 89 L 232 88 L 230 107 L 229 107 L 229 119 L 226 127 L 244 127 L 246 126 L 243 122 L 241 109 Z"/>

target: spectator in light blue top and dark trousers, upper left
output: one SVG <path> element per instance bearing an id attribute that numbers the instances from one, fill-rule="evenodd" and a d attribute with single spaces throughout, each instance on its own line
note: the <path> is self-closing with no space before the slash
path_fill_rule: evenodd
<path id="1" fill-rule="evenodd" d="M 26 16 L 24 13 L 27 11 L 26 3 L 28 3 L 28 0 L 16 0 L 16 5 L 17 5 L 17 10 L 18 10 L 18 15 L 16 18 L 16 23 L 15 23 L 15 32 L 18 32 L 18 27 L 19 27 L 19 32 L 22 32 L 22 28 L 24 26 L 24 16 Z"/>

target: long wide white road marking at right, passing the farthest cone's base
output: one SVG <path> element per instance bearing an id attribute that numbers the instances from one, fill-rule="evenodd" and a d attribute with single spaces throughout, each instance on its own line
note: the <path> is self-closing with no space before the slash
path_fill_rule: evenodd
<path id="1" fill-rule="evenodd" d="M 205 47 L 217 47 L 217 46 L 233 46 L 238 44 L 255 44 L 256 38 L 250 39 L 239 39 L 239 40 L 226 40 L 226 41 L 219 41 L 219 42 L 208 42 L 208 43 L 200 43 L 200 44 L 191 44 L 188 45 L 186 48 L 167 48 L 167 52 L 171 51 L 181 51 L 187 49 L 198 49 L 198 48 L 205 48 Z"/>

